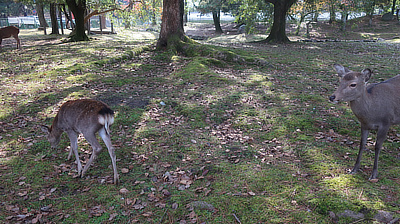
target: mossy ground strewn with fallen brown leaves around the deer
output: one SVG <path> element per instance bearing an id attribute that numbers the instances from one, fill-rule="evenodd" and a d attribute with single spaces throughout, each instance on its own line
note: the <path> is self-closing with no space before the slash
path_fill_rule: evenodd
<path id="1" fill-rule="evenodd" d="M 269 45 L 210 34 L 190 56 L 155 51 L 152 32 L 64 43 L 21 30 L 23 48 L 6 39 L 0 51 L 0 222 L 396 221 L 399 128 L 388 134 L 377 181 L 368 181 L 375 133 L 360 172 L 349 175 L 360 126 L 345 103 L 328 101 L 334 63 L 371 68 L 373 82 L 398 74 L 398 25 L 358 27 L 352 40 L 379 41 Z M 325 37 L 340 34 L 330 30 Z M 41 133 L 62 103 L 79 98 L 116 112 L 120 185 L 106 150 L 77 178 L 67 136 L 53 150 Z M 85 164 L 91 148 L 82 137 L 79 151 Z"/>

